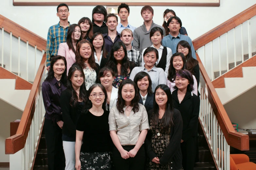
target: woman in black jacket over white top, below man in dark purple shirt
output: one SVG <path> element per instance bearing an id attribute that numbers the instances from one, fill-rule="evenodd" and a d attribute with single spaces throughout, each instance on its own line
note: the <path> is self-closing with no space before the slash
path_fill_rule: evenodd
<path id="1" fill-rule="evenodd" d="M 92 36 L 91 44 L 93 45 L 95 62 L 103 68 L 109 61 L 108 51 L 105 49 L 105 39 L 101 33 L 95 33 Z"/>

